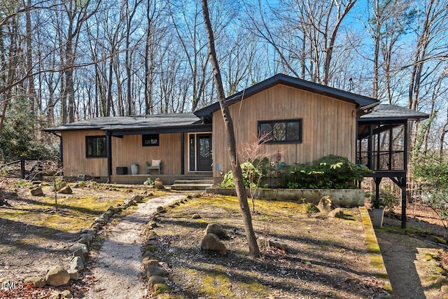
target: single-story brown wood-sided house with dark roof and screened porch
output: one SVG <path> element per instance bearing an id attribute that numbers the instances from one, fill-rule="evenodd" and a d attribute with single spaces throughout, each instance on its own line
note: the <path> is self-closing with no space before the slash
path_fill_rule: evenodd
<path id="1" fill-rule="evenodd" d="M 260 135 L 269 134 L 262 151 L 274 162 L 293 165 L 341 155 L 375 170 L 381 166 L 379 170 L 386 172 L 381 177 L 389 172 L 403 176 L 407 148 L 402 143 L 402 148 L 384 149 L 379 138 L 388 134 L 392 140 L 400 133 L 406 139 L 407 121 L 428 117 L 283 74 L 226 100 L 237 146 L 254 144 Z M 151 175 L 167 184 L 206 176 L 217 183 L 231 169 L 218 103 L 194 113 L 92 118 L 45 131 L 61 139 L 66 176 L 142 183 Z M 396 162 L 400 159 L 401 164 Z"/>

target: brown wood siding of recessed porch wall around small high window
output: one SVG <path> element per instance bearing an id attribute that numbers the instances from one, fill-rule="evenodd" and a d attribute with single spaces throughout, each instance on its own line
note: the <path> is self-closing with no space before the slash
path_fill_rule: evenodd
<path id="1" fill-rule="evenodd" d="M 146 174 L 146 162 L 162 160 L 162 174 L 181 174 L 181 134 L 159 134 L 159 146 L 142 146 L 141 135 L 112 137 L 112 173 L 116 167 L 127 167 L 131 174 L 131 164 L 139 165 L 139 174 Z M 158 174 L 151 170 L 151 174 Z"/>

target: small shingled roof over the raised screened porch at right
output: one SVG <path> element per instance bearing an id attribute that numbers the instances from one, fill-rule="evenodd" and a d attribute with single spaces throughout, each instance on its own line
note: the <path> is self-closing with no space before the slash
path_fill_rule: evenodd
<path id="1" fill-rule="evenodd" d="M 374 107 L 371 113 L 360 117 L 360 121 L 371 120 L 423 120 L 429 115 L 397 105 L 381 104 Z"/>

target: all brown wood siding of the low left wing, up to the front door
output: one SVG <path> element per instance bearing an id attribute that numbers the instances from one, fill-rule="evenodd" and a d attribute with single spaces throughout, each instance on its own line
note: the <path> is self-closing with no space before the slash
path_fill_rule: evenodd
<path id="1" fill-rule="evenodd" d="M 108 176 L 107 158 L 85 157 L 85 137 L 100 135 L 104 135 L 101 130 L 61 133 L 64 167 L 69 169 L 64 172 L 66 176 L 78 176 L 78 174 Z M 141 135 L 112 137 L 112 173 L 116 174 L 116 167 L 127 167 L 128 174 L 131 174 L 131 164 L 137 163 L 139 174 L 146 174 L 146 161 L 160 159 L 163 162 L 163 174 L 181 174 L 181 134 L 160 134 L 159 144 L 159 146 L 142 146 Z M 188 153 L 187 141 L 185 146 L 185 151 Z M 158 172 L 152 170 L 151 174 L 155 175 Z"/>

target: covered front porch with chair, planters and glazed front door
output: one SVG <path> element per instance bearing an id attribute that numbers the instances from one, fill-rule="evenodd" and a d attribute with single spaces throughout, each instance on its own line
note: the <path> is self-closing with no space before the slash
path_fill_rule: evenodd
<path id="1" fill-rule="evenodd" d="M 169 120 L 169 121 L 168 121 Z M 107 181 L 165 184 L 211 176 L 211 124 L 172 116 L 167 122 L 102 127 L 106 134 Z"/>

